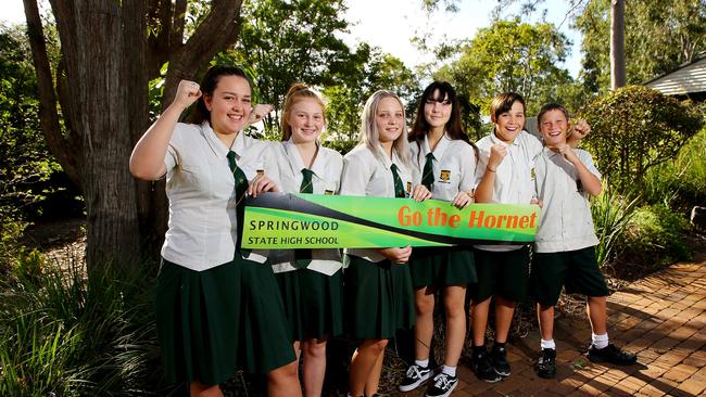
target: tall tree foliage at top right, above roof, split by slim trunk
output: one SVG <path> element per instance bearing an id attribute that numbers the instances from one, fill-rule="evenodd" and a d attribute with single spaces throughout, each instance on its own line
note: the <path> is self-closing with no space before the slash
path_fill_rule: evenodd
<path id="1" fill-rule="evenodd" d="M 645 82 L 706 50 L 703 0 L 627 1 L 625 25 L 628 84 Z M 585 86 L 605 92 L 610 87 L 610 1 L 587 2 L 575 27 L 583 35 Z"/>

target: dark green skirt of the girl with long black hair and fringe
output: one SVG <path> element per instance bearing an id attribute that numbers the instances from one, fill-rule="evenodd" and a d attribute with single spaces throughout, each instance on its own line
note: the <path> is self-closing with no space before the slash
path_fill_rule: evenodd
<path id="1" fill-rule="evenodd" d="M 415 287 L 467 286 L 478 282 L 470 247 L 415 247 L 409 257 Z"/>

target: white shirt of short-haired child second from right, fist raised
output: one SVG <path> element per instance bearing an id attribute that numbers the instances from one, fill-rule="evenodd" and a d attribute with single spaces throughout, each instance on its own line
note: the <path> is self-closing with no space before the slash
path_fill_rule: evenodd
<path id="1" fill-rule="evenodd" d="M 542 142 L 527 131 L 521 131 L 510 144 L 501 141 L 494 132 L 482 138 L 476 142 L 479 152 L 476 185 L 480 183 L 486 174 L 490 159 L 490 148 L 497 143 L 505 144 L 507 155 L 495 170 L 491 203 L 529 204 L 537 196 L 534 158 L 542 151 Z M 520 249 L 522 245 L 475 245 L 475 247 L 483 251 L 508 252 Z"/>

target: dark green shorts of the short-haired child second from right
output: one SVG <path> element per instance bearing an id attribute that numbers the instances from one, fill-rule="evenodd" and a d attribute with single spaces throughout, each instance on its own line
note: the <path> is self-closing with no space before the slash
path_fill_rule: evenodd
<path id="1" fill-rule="evenodd" d="M 522 302 L 529 283 L 529 246 L 506 252 L 475 251 L 478 284 L 469 291 L 474 302 L 492 296 Z"/>

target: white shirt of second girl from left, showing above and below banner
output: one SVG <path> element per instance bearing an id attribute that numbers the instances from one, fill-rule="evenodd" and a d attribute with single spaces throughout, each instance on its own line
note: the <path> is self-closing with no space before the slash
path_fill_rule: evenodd
<path id="1" fill-rule="evenodd" d="M 276 156 L 281 180 L 279 190 L 286 193 L 299 193 L 304 179 L 302 169 L 306 166 L 294 142 L 290 139 L 277 144 Z M 343 157 L 333 150 L 318 145 L 318 153 L 311 168 L 314 172 L 312 176 L 314 194 L 336 194 L 342 169 Z M 269 261 L 276 273 L 298 269 L 293 249 L 273 249 L 269 252 Z M 331 276 L 342 267 L 339 249 L 312 249 L 312 261 L 306 268 Z"/>

